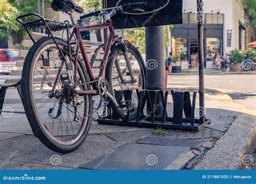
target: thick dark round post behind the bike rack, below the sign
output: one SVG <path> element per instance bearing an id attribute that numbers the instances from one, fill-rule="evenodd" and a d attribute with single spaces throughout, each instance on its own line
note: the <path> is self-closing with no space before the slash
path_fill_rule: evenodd
<path id="1" fill-rule="evenodd" d="M 164 26 L 146 27 L 146 88 L 164 90 L 165 88 L 165 46 Z M 156 104 L 161 103 L 157 96 Z M 163 113 L 163 104 L 158 105 L 156 115 Z"/>

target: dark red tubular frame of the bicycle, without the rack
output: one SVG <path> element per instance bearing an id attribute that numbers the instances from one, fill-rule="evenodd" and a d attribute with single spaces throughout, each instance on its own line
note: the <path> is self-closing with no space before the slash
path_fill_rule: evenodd
<path id="1" fill-rule="evenodd" d="M 114 29 L 113 29 L 112 23 L 109 22 L 109 23 L 103 23 L 103 24 L 74 27 L 74 29 L 73 29 L 73 31 L 70 35 L 69 40 L 72 40 L 72 38 L 75 35 L 76 35 L 76 38 L 78 40 L 78 48 L 77 48 L 77 52 L 76 52 L 76 56 L 75 56 L 75 63 L 74 63 L 74 69 L 75 69 L 74 82 L 75 82 L 75 84 L 77 82 L 77 59 L 78 59 L 79 48 L 80 48 L 80 51 L 81 51 L 83 59 L 84 59 L 85 69 L 87 70 L 87 73 L 89 75 L 89 79 L 90 79 L 90 81 L 95 81 L 95 76 L 93 75 L 92 68 L 91 68 L 91 65 L 90 65 L 90 61 L 89 61 L 89 58 L 88 58 L 87 53 L 85 51 L 83 40 L 82 40 L 82 35 L 81 35 L 80 32 L 90 31 L 90 30 L 97 30 L 97 29 L 104 29 L 104 28 L 109 29 L 110 34 L 109 34 L 109 38 L 107 40 L 106 49 L 105 49 L 104 56 L 103 56 L 103 67 L 100 68 L 98 78 L 103 77 L 103 75 L 105 73 L 105 69 L 106 69 L 107 58 L 109 58 L 110 48 L 111 48 L 111 44 L 112 44 L 112 41 L 113 41 L 113 38 L 114 38 Z M 57 81 L 58 81 L 58 78 L 61 74 L 61 70 L 62 70 L 63 65 L 64 65 L 64 61 L 62 61 L 62 64 L 61 64 L 60 69 L 58 71 L 55 84 L 53 85 L 53 88 L 52 88 L 52 92 L 55 90 L 55 88 L 57 86 Z M 97 90 L 96 86 L 94 85 L 92 87 L 93 87 L 93 90 L 76 91 L 76 93 L 78 95 L 87 95 L 87 94 L 97 95 L 98 90 Z"/>

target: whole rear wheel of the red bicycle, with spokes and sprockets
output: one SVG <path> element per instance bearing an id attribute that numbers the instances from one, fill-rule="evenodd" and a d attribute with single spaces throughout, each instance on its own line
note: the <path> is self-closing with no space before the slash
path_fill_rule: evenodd
<path id="1" fill-rule="evenodd" d="M 56 41 L 71 68 L 74 59 L 69 59 L 68 44 L 59 38 Z M 70 82 L 74 71 L 68 71 L 64 64 L 55 95 L 49 96 L 63 60 L 51 37 L 38 40 L 30 48 L 24 62 L 22 100 L 34 135 L 51 150 L 68 153 L 83 143 L 90 129 L 92 96 L 79 98 L 73 93 L 75 90 L 90 90 L 90 85 L 86 84 L 89 79 L 80 59 L 77 66 L 77 88 L 72 88 Z"/>

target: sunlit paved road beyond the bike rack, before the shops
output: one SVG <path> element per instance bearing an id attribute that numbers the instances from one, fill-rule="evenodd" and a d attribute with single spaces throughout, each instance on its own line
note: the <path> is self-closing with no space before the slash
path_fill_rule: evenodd
<path id="1" fill-rule="evenodd" d="M 220 72 L 206 71 L 205 87 L 230 95 L 233 100 L 247 109 L 256 110 L 256 74 L 221 75 Z M 168 85 L 199 86 L 197 73 L 169 75 Z"/>

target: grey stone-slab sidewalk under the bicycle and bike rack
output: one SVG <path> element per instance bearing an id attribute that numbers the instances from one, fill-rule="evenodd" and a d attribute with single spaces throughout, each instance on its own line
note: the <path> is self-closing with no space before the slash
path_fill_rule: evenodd
<path id="1" fill-rule="evenodd" d="M 15 93 L 14 89 L 8 90 L 7 98 L 16 98 Z M 248 140 L 255 135 L 255 130 L 252 130 L 253 125 L 255 128 L 255 117 L 252 116 L 255 115 L 254 111 L 246 111 L 242 105 L 235 104 L 232 98 L 220 91 L 206 89 L 205 97 L 207 118 L 211 118 L 212 123 L 199 132 L 166 130 L 164 135 L 156 136 L 152 135 L 150 129 L 99 125 L 92 122 L 84 144 L 69 154 L 59 154 L 46 148 L 33 136 L 25 115 L 0 117 L 0 169 L 205 168 L 204 160 L 210 156 L 216 157 L 214 152 L 220 153 L 212 150 L 218 148 L 219 141 L 225 141 L 225 136 L 235 122 L 244 122 L 241 117 L 248 120 L 247 131 L 242 131 L 243 143 L 251 145 Z M 171 98 L 169 99 L 171 109 Z M 4 105 L 22 110 L 21 103 Z M 249 129 L 251 133 L 248 132 Z M 228 137 L 228 141 L 234 140 L 240 130 L 239 126 L 232 129 L 234 137 Z M 226 155 L 230 158 L 242 157 L 241 154 L 250 151 L 250 146 L 245 147 L 244 144 L 234 141 L 234 149 L 226 150 Z M 206 155 L 208 150 L 212 154 Z M 51 162 L 54 157 L 58 158 L 57 163 Z M 211 162 L 211 167 L 221 167 L 222 163 L 218 161 L 221 159 Z M 241 166 L 241 159 L 237 159 L 237 162 L 234 165 Z"/>

